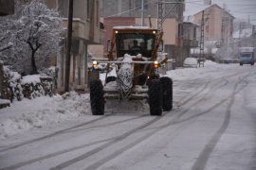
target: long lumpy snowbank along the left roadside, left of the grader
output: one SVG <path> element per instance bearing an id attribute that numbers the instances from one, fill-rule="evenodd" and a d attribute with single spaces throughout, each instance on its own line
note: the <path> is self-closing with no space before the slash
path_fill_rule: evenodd
<path id="1" fill-rule="evenodd" d="M 14 102 L 11 107 L 0 110 L 0 139 L 31 127 L 59 123 L 85 113 L 90 114 L 89 94 L 68 93 L 64 97 L 43 96 Z"/>

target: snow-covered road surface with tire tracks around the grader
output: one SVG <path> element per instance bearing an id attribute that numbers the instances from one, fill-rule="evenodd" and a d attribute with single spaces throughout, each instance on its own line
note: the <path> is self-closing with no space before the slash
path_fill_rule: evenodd
<path id="1" fill-rule="evenodd" d="M 79 113 L 58 124 L 6 132 L 0 169 L 256 169 L 256 67 L 207 62 L 168 76 L 174 78 L 174 110 L 160 117 L 150 116 L 145 102 L 108 102 L 104 116 L 92 116 L 88 94 L 80 96 L 84 105 L 72 100 L 76 110 L 48 98 L 49 112 Z M 0 110 L 2 127 L 14 109 Z M 33 112 L 19 111 L 23 117 Z"/>

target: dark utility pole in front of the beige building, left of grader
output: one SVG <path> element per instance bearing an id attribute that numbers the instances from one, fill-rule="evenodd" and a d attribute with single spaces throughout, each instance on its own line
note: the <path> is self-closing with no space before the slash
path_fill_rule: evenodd
<path id="1" fill-rule="evenodd" d="M 65 72 L 64 72 L 64 92 L 69 92 L 69 76 L 70 76 L 70 56 L 72 43 L 72 22 L 73 22 L 73 0 L 69 0 L 68 5 L 68 25 L 66 38 L 66 55 L 65 55 Z"/>

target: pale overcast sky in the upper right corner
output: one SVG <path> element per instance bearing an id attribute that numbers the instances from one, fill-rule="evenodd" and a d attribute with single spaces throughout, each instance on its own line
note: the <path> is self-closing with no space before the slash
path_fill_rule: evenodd
<path id="1" fill-rule="evenodd" d="M 211 0 L 211 2 L 222 8 L 226 4 L 235 18 L 248 19 L 249 16 L 251 24 L 256 25 L 256 0 Z"/>

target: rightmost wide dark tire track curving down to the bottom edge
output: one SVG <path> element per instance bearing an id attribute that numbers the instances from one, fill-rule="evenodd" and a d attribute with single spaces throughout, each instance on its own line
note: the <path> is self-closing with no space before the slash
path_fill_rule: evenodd
<path id="1" fill-rule="evenodd" d="M 247 74 L 247 76 L 249 76 L 249 75 L 250 75 L 250 73 Z M 232 108 L 232 105 L 234 104 L 234 101 L 235 101 L 235 95 L 237 93 L 239 93 L 240 91 L 242 91 L 244 88 L 247 87 L 248 83 L 245 80 L 245 78 L 246 77 L 239 78 L 239 81 L 234 86 L 233 93 L 231 94 L 231 96 L 229 96 L 228 99 L 226 99 L 226 101 L 229 100 L 229 105 L 228 105 L 227 110 L 226 110 L 226 115 L 225 115 L 224 122 L 223 122 L 222 126 L 216 131 L 216 133 L 212 136 L 212 138 L 210 139 L 210 142 L 208 144 L 206 144 L 203 151 L 199 154 L 198 158 L 196 159 L 196 161 L 192 165 L 192 170 L 203 170 L 203 169 L 205 169 L 206 164 L 207 164 L 208 160 L 210 159 L 210 155 L 213 152 L 213 149 L 215 148 L 215 146 L 219 142 L 221 136 L 224 134 L 226 129 L 229 127 L 231 108 Z M 244 85 L 242 88 L 240 88 L 237 91 L 238 85 L 241 84 L 241 82 L 246 82 L 246 85 Z"/>

